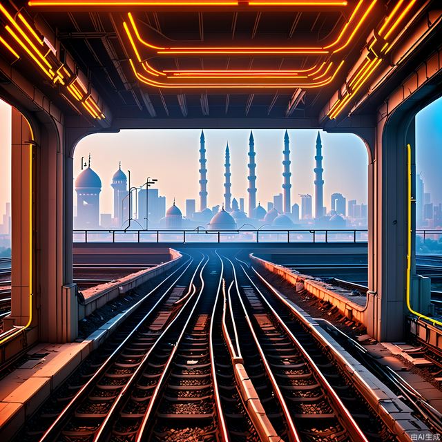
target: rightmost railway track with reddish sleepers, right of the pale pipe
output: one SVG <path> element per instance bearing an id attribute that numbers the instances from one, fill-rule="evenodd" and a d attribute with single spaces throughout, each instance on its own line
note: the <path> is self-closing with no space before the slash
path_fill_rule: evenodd
<path id="1" fill-rule="evenodd" d="M 231 262 L 230 298 L 244 365 L 265 367 L 290 441 L 390 441 L 376 412 L 352 387 L 327 352 L 271 294 L 253 271 Z M 245 320 L 244 320 L 245 319 Z M 251 349 L 253 347 L 253 349 Z M 259 382 L 259 375 L 256 382 Z M 252 379 L 253 381 L 253 379 Z M 265 398 L 262 399 L 265 401 Z M 276 413 L 268 412 L 269 416 Z M 278 419 L 273 417 L 278 427 Z M 280 430 L 280 427 L 278 427 Z"/>

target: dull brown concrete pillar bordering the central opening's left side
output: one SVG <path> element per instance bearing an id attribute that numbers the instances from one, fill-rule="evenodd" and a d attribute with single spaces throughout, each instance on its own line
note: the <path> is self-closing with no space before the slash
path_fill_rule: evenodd
<path id="1" fill-rule="evenodd" d="M 77 336 L 77 299 L 73 285 L 73 161 L 64 126 L 39 127 L 37 149 L 37 265 L 39 339 L 64 343 Z"/>

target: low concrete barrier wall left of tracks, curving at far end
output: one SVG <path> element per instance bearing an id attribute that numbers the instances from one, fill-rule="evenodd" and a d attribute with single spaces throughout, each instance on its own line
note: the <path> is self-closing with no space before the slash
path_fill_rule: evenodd
<path id="1" fill-rule="evenodd" d="M 131 273 L 131 275 L 125 276 L 124 278 L 119 278 L 117 282 L 111 285 L 104 285 L 106 287 L 99 289 L 93 295 L 85 296 L 84 304 L 79 304 L 78 306 L 78 320 L 89 316 L 93 311 L 102 307 L 107 302 L 126 294 L 128 291 L 135 289 L 135 287 L 142 285 L 151 278 L 155 278 L 155 276 L 175 267 L 175 265 L 182 260 L 182 254 L 179 251 L 169 249 L 169 258 L 170 260 L 168 262 L 151 267 L 150 269 L 138 271 L 137 273 Z M 85 294 L 87 293 L 87 291 L 84 292 Z"/>

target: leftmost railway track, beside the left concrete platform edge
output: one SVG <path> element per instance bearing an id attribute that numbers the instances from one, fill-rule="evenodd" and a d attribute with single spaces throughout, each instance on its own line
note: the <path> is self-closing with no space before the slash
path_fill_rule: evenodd
<path id="1" fill-rule="evenodd" d="M 16 440 L 92 441 L 107 430 L 107 416 L 120 410 L 151 354 L 189 313 L 203 261 L 189 257 L 138 301 L 134 313 L 40 407 Z M 180 298 L 184 302 L 176 302 Z"/>

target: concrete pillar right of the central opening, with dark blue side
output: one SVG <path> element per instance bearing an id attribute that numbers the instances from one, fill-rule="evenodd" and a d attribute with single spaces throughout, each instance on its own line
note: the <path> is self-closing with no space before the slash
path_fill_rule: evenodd
<path id="1" fill-rule="evenodd" d="M 414 125 L 401 119 L 378 120 L 369 175 L 369 303 L 377 340 L 405 336 L 407 269 L 407 143 L 414 146 Z M 410 125 L 411 124 L 411 125 Z"/>

